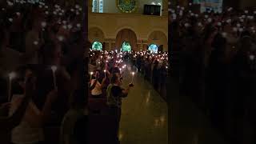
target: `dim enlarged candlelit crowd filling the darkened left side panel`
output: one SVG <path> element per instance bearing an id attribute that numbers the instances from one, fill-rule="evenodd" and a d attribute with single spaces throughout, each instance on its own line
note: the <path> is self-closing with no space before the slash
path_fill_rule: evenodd
<path id="1" fill-rule="evenodd" d="M 1 143 L 86 142 L 79 3 L 1 1 Z"/>

